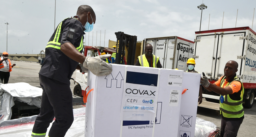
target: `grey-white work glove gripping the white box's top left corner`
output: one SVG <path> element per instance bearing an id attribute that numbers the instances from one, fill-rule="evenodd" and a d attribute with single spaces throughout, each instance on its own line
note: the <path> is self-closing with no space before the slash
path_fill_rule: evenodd
<path id="1" fill-rule="evenodd" d="M 89 69 L 96 76 L 104 76 L 111 74 L 112 65 L 102 60 L 109 58 L 110 56 L 111 54 L 100 55 L 94 58 L 87 56 L 83 61 L 83 67 Z"/>

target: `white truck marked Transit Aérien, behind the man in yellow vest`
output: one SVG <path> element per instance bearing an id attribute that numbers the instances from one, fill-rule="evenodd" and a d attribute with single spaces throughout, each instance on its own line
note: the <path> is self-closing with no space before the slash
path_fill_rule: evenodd
<path id="1" fill-rule="evenodd" d="M 163 68 L 187 70 L 187 59 L 193 58 L 194 42 L 178 36 L 146 38 L 143 46 L 148 43 L 153 46 L 154 55 L 160 57 Z M 144 54 L 144 53 L 143 53 Z"/>

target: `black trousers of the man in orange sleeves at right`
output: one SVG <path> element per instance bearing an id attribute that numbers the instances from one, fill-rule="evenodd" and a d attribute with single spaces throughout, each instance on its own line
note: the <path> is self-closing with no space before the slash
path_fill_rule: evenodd
<path id="1" fill-rule="evenodd" d="M 226 121 L 221 118 L 221 137 L 236 137 L 242 120 Z"/>

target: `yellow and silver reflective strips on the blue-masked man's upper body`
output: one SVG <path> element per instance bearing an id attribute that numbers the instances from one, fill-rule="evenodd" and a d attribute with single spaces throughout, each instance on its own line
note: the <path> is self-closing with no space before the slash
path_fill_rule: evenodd
<path id="1" fill-rule="evenodd" d="M 67 18 L 66 18 L 67 19 Z M 66 20 L 65 19 L 65 20 Z M 64 21 L 64 20 L 63 20 Z M 45 48 L 48 48 L 48 47 L 52 47 L 52 48 L 55 48 L 55 49 L 60 49 L 60 40 L 59 40 L 59 37 L 60 37 L 60 34 L 61 34 L 61 26 L 62 26 L 62 23 L 59 23 L 58 27 L 57 27 L 57 31 L 55 33 L 55 36 L 54 36 L 54 39 L 52 41 L 49 41 L 46 45 Z M 81 42 L 80 42 L 80 46 L 76 48 L 79 52 L 83 49 L 83 38 L 81 38 Z"/>

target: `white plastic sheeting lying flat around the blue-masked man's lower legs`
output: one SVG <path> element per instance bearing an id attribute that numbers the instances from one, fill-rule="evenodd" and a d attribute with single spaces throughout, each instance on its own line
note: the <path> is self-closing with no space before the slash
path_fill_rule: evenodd
<path id="1" fill-rule="evenodd" d="M 65 137 L 84 137 L 85 126 L 85 107 L 73 109 L 74 122 L 67 131 Z M 22 117 L 0 123 L 0 137 L 31 137 L 32 129 L 37 115 Z M 53 123 L 53 122 L 52 122 Z M 47 129 L 46 137 L 52 126 Z"/>

